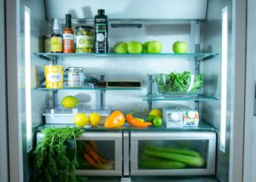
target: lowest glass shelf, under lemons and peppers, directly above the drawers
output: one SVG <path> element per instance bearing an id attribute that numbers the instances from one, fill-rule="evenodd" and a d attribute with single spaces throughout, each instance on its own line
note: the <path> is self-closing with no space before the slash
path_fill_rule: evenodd
<path id="1" fill-rule="evenodd" d="M 38 131 L 43 130 L 44 128 L 65 128 L 70 127 L 73 128 L 75 125 L 73 124 L 43 124 L 38 127 Z M 206 122 L 199 122 L 198 128 L 166 128 L 165 125 L 162 127 L 148 127 L 148 128 L 134 128 L 131 127 L 131 125 L 127 122 L 125 122 L 125 125 L 123 128 L 104 128 L 104 126 L 98 125 L 96 128 L 90 128 L 90 126 L 84 127 L 84 130 L 91 131 L 91 132 L 108 132 L 108 131 L 171 131 L 171 132 L 190 132 L 190 131 L 215 131 L 215 128 L 213 128 L 211 125 L 207 124 Z"/>

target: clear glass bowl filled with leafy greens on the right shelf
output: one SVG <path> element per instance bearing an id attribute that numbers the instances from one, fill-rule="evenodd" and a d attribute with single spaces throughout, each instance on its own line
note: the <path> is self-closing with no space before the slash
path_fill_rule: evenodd
<path id="1" fill-rule="evenodd" d="M 159 74 L 154 77 L 160 93 L 191 93 L 194 94 L 203 85 L 203 75 L 193 75 L 189 71 L 183 73 L 171 72 L 168 75 Z"/>

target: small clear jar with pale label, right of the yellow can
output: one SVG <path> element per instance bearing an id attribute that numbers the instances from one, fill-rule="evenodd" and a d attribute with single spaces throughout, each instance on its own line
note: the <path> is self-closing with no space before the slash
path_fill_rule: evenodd
<path id="1" fill-rule="evenodd" d="M 81 67 L 68 68 L 68 87 L 82 88 L 84 86 L 84 69 Z"/>

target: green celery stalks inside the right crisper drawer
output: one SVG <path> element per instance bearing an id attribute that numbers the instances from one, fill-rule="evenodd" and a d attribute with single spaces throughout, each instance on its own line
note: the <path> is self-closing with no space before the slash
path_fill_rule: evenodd
<path id="1" fill-rule="evenodd" d="M 142 158 L 139 162 L 140 168 L 202 168 L 205 159 L 197 151 L 183 150 L 158 145 L 145 145 Z"/>

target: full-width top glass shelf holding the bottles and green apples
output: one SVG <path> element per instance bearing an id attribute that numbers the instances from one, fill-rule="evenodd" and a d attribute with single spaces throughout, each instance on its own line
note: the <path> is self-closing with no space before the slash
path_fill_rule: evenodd
<path id="1" fill-rule="evenodd" d="M 162 58 L 162 57 L 173 57 L 173 58 L 196 58 L 197 60 L 208 60 L 213 56 L 217 56 L 217 53 L 187 53 L 187 54 L 174 54 L 174 53 L 161 53 L 161 54 L 95 54 L 95 53 L 82 53 L 82 54 L 52 54 L 52 53 L 35 53 L 36 55 L 46 59 L 46 60 L 55 60 L 61 57 L 155 57 L 155 58 Z"/>

